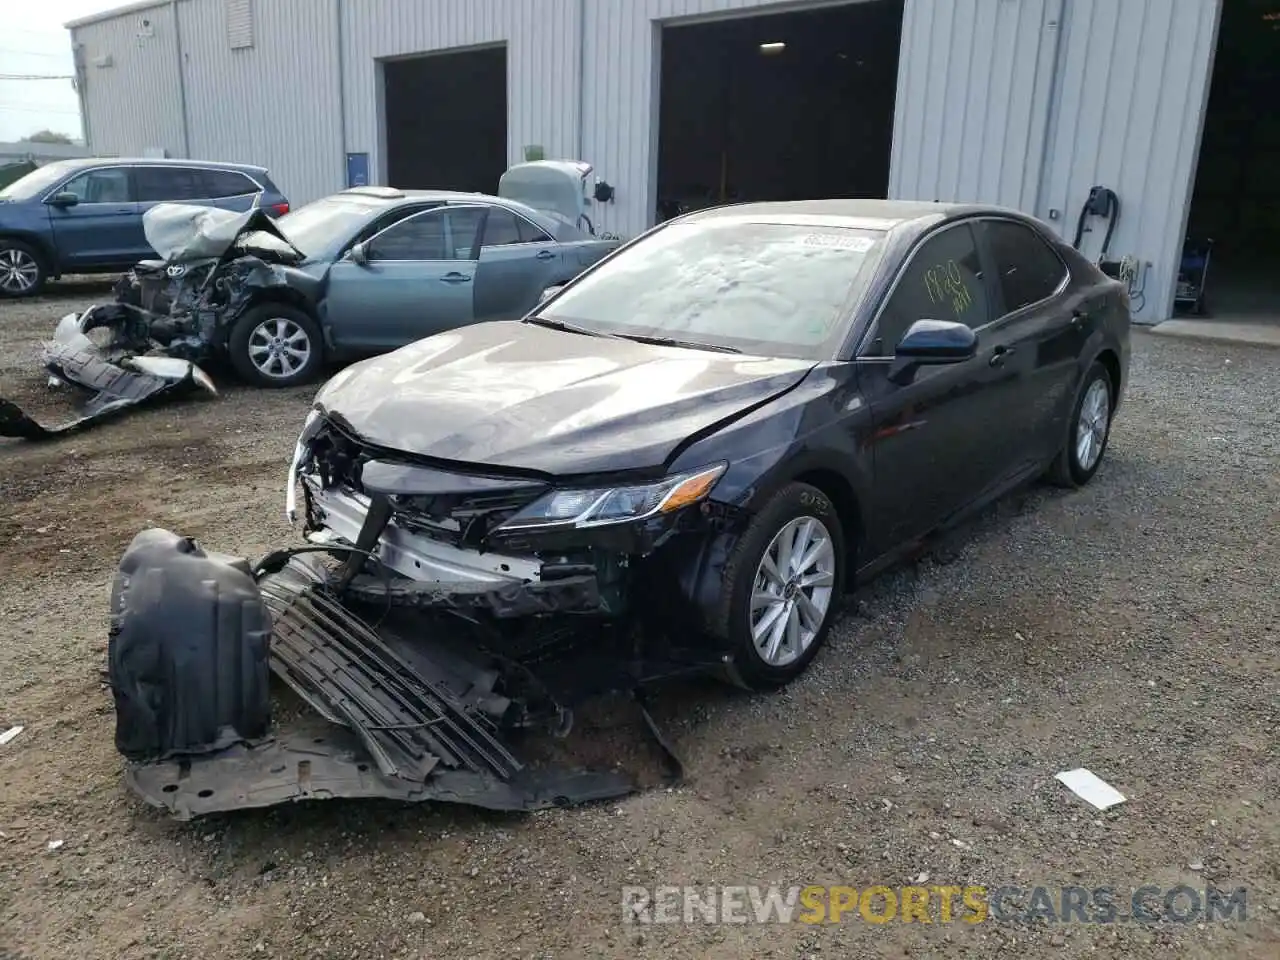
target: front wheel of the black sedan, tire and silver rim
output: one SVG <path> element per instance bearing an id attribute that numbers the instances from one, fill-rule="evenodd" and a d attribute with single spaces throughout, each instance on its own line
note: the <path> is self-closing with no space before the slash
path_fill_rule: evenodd
<path id="1" fill-rule="evenodd" d="M 808 552 L 820 550 L 817 538 L 823 534 L 828 545 L 828 552 L 819 553 L 819 559 L 806 567 L 808 577 L 818 580 L 810 586 L 803 586 L 778 562 L 780 554 L 783 562 L 790 557 L 786 538 L 796 532 L 810 538 Z M 774 568 L 781 567 L 786 582 L 771 581 L 764 573 L 767 553 Z M 787 484 L 748 525 L 730 552 L 721 607 L 710 625 L 712 632 L 727 641 L 737 677 L 748 687 L 782 686 L 813 660 L 836 620 L 845 584 L 845 556 L 840 515 L 827 494 L 809 484 Z M 765 593 L 776 594 L 777 602 L 753 605 Z M 805 605 L 797 598 L 805 598 L 810 609 L 819 611 L 817 628 L 804 616 Z M 754 631 L 768 618 L 780 626 L 777 630 L 765 626 L 758 643 Z"/>

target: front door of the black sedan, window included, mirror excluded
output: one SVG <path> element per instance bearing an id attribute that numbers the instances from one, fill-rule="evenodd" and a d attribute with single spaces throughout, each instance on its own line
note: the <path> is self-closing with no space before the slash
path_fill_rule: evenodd
<path id="1" fill-rule="evenodd" d="M 1001 411 L 1011 394 L 992 375 L 988 280 L 972 225 L 945 225 L 911 253 L 858 356 L 858 383 L 873 421 L 876 502 L 868 535 L 876 556 L 945 522 L 1006 468 Z M 916 320 L 974 328 L 978 353 L 960 364 L 920 366 L 908 383 L 893 383 L 895 347 Z"/>

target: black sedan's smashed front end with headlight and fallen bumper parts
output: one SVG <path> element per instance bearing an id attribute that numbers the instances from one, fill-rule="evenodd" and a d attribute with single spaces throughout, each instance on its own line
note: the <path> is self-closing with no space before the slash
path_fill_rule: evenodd
<path id="1" fill-rule="evenodd" d="M 306 545 L 250 563 L 147 530 L 122 561 L 109 675 L 129 787 L 179 819 L 328 797 L 616 797 L 632 774 L 522 749 L 609 692 L 632 695 L 677 778 L 645 690 L 728 667 L 643 616 L 675 616 L 646 558 L 732 526 L 707 500 L 723 468 L 566 493 L 440 470 L 312 412 L 288 485 Z M 270 673 L 310 710 L 274 716 Z"/>

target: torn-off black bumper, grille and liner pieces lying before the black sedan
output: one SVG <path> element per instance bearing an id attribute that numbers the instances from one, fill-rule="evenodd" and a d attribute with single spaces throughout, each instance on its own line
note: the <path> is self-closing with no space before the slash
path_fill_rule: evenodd
<path id="1" fill-rule="evenodd" d="M 500 641 L 362 605 L 319 557 L 284 550 L 251 567 L 164 530 L 134 538 L 113 586 L 109 675 L 125 781 L 147 803 L 179 819 L 329 797 L 531 810 L 636 788 L 509 742 L 567 733 L 570 707 L 535 666 L 572 648 L 572 631 Z M 269 673 L 314 716 L 273 717 Z"/>

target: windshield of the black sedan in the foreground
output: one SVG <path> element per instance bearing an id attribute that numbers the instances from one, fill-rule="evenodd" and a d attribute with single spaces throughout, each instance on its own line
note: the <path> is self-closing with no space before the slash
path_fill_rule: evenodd
<path id="1" fill-rule="evenodd" d="M 538 311 L 596 333 L 826 360 L 883 248 L 881 230 L 716 218 L 654 232 Z"/>

